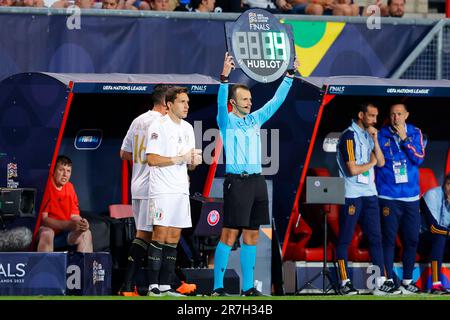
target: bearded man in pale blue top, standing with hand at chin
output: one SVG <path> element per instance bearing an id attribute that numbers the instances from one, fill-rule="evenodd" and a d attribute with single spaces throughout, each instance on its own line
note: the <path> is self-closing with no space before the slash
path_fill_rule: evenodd
<path id="1" fill-rule="evenodd" d="M 341 276 L 341 293 L 358 294 L 347 273 L 347 251 L 359 222 L 369 240 L 372 263 L 384 274 L 383 247 L 381 242 L 380 211 L 375 187 L 374 167 L 384 166 L 384 156 L 378 144 L 378 108 L 369 102 L 359 105 L 356 119 L 339 139 L 337 163 L 339 175 L 345 180 L 345 205 L 339 214 L 339 238 L 336 247 Z M 384 276 L 377 278 L 373 294 L 400 294 L 393 282 Z"/>

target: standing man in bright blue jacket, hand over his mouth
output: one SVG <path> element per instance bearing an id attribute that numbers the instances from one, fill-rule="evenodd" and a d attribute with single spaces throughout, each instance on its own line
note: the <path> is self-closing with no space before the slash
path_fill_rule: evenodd
<path id="1" fill-rule="evenodd" d="M 394 277 L 394 249 L 397 232 L 403 242 L 403 294 L 415 294 L 420 290 L 412 281 L 420 230 L 419 165 L 425 157 L 422 132 L 407 124 L 409 113 L 405 104 L 393 104 L 390 124 L 378 134 L 378 142 L 385 158 L 385 165 L 376 168 L 376 185 L 381 211 L 383 253 L 386 277 Z"/>

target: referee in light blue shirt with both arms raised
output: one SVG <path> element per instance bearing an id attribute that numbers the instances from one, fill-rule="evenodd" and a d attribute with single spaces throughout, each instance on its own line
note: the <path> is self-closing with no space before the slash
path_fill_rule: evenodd
<path id="1" fill-rule="evenodd" d="M 227 159 L 223 185 L 224 220 L 220 242 L 215 251 L 212 295 L 226 295 L 223 287 L 224 273 L 231 248 L 242 230 L 242 295 L 258 296 L 261 293 L 253 286 L 256 245 L 259 226 L 269 223 L 267 186 L 264 176 L 261 175 L 260 128 L 286 99 L 298 62 L 294 61 L 295 69 L 288 70 L 275 96 L 252 113 L 252 95 L 249 88 L 243 84 L 231 87 L 229 102 L 233 110 L 228 113 L 228 77 L 234 67 L 233 57 L 227 52 L 217 97 L 217 123 Z"/>

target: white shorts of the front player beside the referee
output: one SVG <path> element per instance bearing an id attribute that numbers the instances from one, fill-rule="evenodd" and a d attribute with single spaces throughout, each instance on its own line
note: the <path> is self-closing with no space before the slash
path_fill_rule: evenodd
<path id="1" fill-rule="evenodd" d="M 151 224 L 164 227 L 190 228 L 191 204 L 187 194 L 163 194 L 149 199 Z"/>

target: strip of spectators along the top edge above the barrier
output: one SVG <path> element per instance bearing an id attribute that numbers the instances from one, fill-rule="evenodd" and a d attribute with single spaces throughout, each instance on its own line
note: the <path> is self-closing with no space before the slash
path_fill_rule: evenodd
<path id="1" fill-rule="evenodd" d="M 378 0 L 382 17 L 402 17 L 406 0 Z M 353 0 L 0 0 L 0 6 L 184 12 L 244 12 L 250 8 L 275 14 L 358 16 L 370 15 Z"/>

